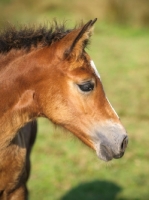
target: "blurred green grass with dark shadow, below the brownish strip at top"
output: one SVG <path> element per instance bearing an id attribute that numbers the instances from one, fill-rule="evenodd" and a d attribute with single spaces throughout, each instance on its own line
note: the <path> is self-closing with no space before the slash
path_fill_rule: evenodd
<path id="1" fill-rule="evenodd" d="M 88 53 L 128 131 L 125 156 L 103 163 L 70 134 L 51 130 L 49 122 L 41 120 L 32 154 L 31 199 L 147 200 L 149 197 L 149 38 L 144 31 L 137 35 L 138 30 L 128 28 L 126 35 L 117 27 L 107 29 L 96 24 Z"/>

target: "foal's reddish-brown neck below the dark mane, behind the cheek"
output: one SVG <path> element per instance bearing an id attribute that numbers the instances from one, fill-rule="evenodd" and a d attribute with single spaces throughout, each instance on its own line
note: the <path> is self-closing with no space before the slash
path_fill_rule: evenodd
<path id="1" fill-rule="evenodd" d="M 9 144 L 19 128 L 39 115 L 34 90 L 28 83 L 29 66 L 23 66 L 27 56 L 23 51 L 0 55 L 1 148 Z"/>

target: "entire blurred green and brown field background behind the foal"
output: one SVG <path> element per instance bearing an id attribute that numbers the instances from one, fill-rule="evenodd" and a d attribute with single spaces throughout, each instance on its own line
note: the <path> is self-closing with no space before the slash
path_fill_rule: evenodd
<path id="1" fill-rule="evenodd" d="M 39 119 L 30 200 L 149 199 L 149 1 L 0 0 L 0 27 L 98 17 L 87 50 L 128 131 L 122 159 L 104 163 L 72 134 Z"/>

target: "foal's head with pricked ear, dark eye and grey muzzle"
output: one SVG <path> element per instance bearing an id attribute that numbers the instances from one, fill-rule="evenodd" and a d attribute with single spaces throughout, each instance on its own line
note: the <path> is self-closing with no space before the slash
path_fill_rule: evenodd
<path id="1" fill-rule="evenodd" d="M 46 117 L 74 133 L 100 159 L 109 161 L 123 156 L 128 139 L 85 51 L 95 21 L 72 30 L 40 52 L 40 60 L 48 54 L 51 60 L 47 65 L 51 67 L 45 70 L 38 101 Z"/>

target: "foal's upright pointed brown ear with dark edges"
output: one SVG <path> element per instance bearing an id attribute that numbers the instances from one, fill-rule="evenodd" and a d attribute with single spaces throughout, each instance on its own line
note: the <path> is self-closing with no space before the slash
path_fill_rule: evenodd
<path id="1" fill-rule="evenodd" d="M 93 25 L 97 21 L 97 18 L 90 20 L 83 27 L 75 29 L 68 33 L 63 39 L 65 51 L 64 58 L 78 59 L 86 47 L 89 38 L 93 32 Z"/>

